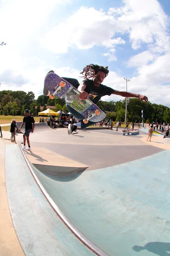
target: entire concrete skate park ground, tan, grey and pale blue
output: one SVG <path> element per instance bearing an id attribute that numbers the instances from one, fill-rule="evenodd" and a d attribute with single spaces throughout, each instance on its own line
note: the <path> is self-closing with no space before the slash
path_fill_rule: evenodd
<path id="1" fill-rule="evenodd" d="M 0 256 L 168 256 L 170 139 L 147 131 L 2 131 Z"/>

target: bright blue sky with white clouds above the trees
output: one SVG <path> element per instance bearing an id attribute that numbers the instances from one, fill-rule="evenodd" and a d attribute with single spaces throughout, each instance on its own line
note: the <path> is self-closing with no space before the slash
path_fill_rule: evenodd
<path id="1" fill-rule="evenodd" d="M 0 0 L 0 90 L 43 94 L 50 70 L 83 80 L 108 66 L 104 85 L 170 107 L 169 0 Z M 111 95 L 102 100 L 123 100 Z"/>

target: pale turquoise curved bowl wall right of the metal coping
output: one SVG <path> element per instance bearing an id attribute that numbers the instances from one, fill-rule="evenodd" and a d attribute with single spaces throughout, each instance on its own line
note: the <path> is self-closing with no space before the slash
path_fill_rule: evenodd
<path id="1" fill-rule="evenodd" d="M 170 151 L 65 178 L 36 174 L 65 216 L 109 255 L 169 255 Z"/>

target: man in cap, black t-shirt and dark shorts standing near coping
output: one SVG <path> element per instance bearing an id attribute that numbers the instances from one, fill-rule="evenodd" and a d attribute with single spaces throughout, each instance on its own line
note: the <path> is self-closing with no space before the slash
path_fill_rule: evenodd
<path id="1" fill-rule="evenodd" d="M 26 109 L 24 113 L 25 113 L 25 117 L 23 118 L 23 122 L 21 124 L 21 127 L 18 129 L 18 132 L 21 131 L 21 128 L 26 123 L 25 133 L 23 135 L 24 146 L 22 147 L 22 149 L 31 150 L 30 142 L 29 142 L 29 134 L 30 134 L 30 132 L 34 132 L 35 120 L 34 120 L 34 117 L 29 114 L 28 109 Z M 26 148 L 26 141 L 27 141 L 27 144 L 28 144 L 28 148 Z"/>

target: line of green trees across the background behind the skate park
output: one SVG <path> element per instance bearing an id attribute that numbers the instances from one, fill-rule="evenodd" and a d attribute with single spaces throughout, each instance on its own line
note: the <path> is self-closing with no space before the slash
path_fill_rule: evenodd
<path id="1" fill-rule="evenodd" d="M 43 110 L 46 106 L 55 106 L 54 111 L 63 110 L 68 113 L 65 102 L 57 97 L 51 100 L 49 97 L 40 95 L 35 100 L 35 95 L 32 91 L 26 93 L 24 91 L 0 91 L 0 114 L 8 115 L 24 115 L 25 109 L 29 109 L 34 116 L 40 112 L 40 106 Z M 107 117 L 113 121 L 125 120 L 125 100 L 119 101 L 103 101 L 97 103 L 98 107 L 107 113 Z M 37 106 L 37 109 L 36 109 Z M 142 121 L 142 110 L 144 111 L 144 122 L 167 122 L 170 123 L 170 108 L 161 104 L 151 102 L 143 102 L 136 98 L 130 98 L 127 102 L 127 121 L 136 122 Z"/>

